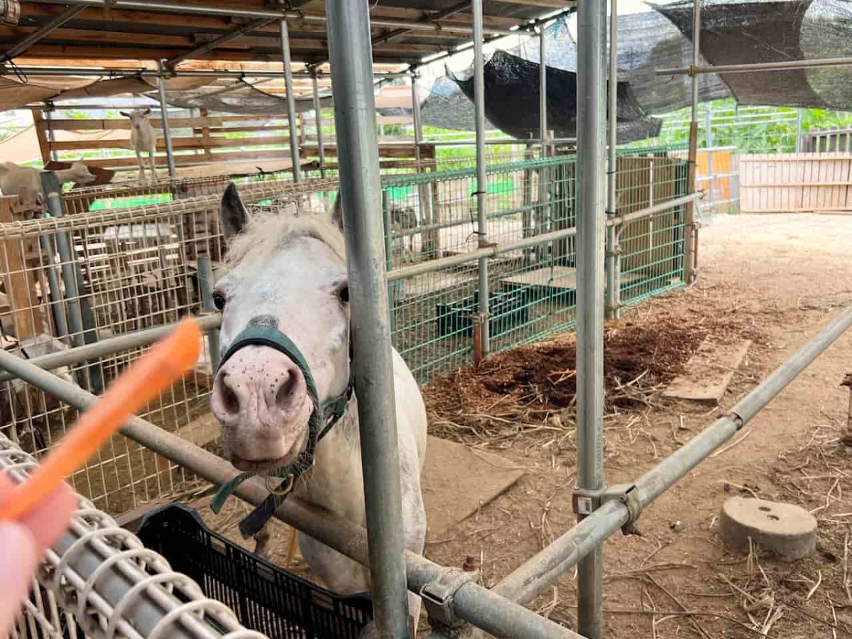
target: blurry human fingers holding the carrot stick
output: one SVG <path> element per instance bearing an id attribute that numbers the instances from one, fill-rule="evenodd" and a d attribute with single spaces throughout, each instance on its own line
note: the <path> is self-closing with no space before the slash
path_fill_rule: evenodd
<path id="1" fill-rule="evenodd" d="M 14 482 L 0 472 L 0 502 Z M 0 521 L 0 637 L 8 636 L 44 550 L 65 532 L 77 498 L 62 484 L 21 521 Z"/>

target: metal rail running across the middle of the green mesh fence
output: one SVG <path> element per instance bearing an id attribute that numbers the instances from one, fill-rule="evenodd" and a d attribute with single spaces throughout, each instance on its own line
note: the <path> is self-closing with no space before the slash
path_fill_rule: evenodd
<path id="1" fill-rule="evenodd" d="M 660 204 L 654 204 L 653 206 L 649 206 L 647 209 L 633 211 L 632 213 L 629 213 L 626 216 L 613 217 L 607 220 L 607 226 L 617 226 L 619 224 L 635 222 L 636 220 L 640 220 L 643 217 L 653 216 L 665 210 L 673 209 L 674 207 L 680 206 L 681 204 L 686 204 L 687 202 L 692 202 L 696 199 L 700 199 L 703 195 L 704 192 L 696 191 L 695 193 L 684 195 L 681 198 L 672 199 L 668 202 L 662 202 Z M 388 281 L 393 282 L 396 279 L 406 279 L 410 277 L 415 277 L 417 275 L 423 275 L 424 273 L 432 273 L 434 271 L 439 271 L 441 268 L 451 268 L 455 266 L 460 266 L 461 264 L 466 264 L 467 262 L 479 260 L 482 257 L 493 257 L 502 255 L 504 253 L 509 253 L 513 250 L 528 249 L 532 246 L 545 244 L 547 242 L 555 242 L 558 239 L 569 238 L 576 234 L 576 227 L 562 228 L 559 231 L 551 231 L 550 233 L 533 235 L 533 237 L 530 238 L 516 239 L 514 242 L 504 242 L 504 244 L 496 244 L 484 249 L 471 250 L 468 253 L 463 253 L 461 255 L 442 257 L 440 258 L 440 260 L 429 260 L 429 262 L 421 262 L 419 264 L 413 264 L 410 267 L 398 268 L 393 271 L 390 271 L 388 273 Z"/>

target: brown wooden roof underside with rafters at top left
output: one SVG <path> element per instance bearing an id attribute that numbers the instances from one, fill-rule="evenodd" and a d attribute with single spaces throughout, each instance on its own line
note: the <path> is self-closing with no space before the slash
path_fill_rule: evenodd
<path id="1" fill-rule="evenodd" d="M 324 0 L 300 0 L 296 10 L 268 0 L 21 0 L 17 26 L 0 26 L 0 55 L 28 60 L 188 60 L 276 62 L 279 27 L 290 26 L 293 60 L 317 66 L 328 59 Z M 291 7 L 296 4 L 290 3 Z M 466 3 L 469 5 L 469 3 Z M 573 0 L 484 0 L 486 35 L 527 24 Z M 81 8 L 81 5 L 82 8 Z M 381 0 L 371 10 L 374 60 L 416 65 L 469 41 L 469 6 L 458 0 Z M 277 17 L 276 17 L 277 16 Z M 27 43 L 20 50 L 20 43 Z M 19 50 L 16 50 L 19 49 Z M 10 57 L 14 57 L 10 56 Z"/>

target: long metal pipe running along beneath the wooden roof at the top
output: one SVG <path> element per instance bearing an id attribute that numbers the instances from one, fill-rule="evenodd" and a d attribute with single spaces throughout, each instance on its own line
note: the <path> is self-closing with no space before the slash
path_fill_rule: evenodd
<path id="1" fill-rule="evenodd" d="M 67 0 L 24 0 L 25 2 L 37 2 L 44 4 L 66 4 Z M 221 15 L 228 18 L 271 18 L 298 20 L 304 22 L 316 22 L 325 24 L 324 14 L 304 13 L 302 11 L 287 11 L 285 9 L 240 9 L 236 6 L 223 7 L 222 5 L 205 5 L 195 3 L 164 3 L 158 0 L 73 0 L 74 4 L 82 4 L 86 7 L 104 7 L 112 9 L 130 9 L 134 11 L 155 11 L 158 13 L 182 14 L 182 15 Z M 472 33 L 473 26 L 458 24 L 456 22 L 419 22 L 416 20 L 398 20 L 391 18 L 371 18 L 372 26 L 383 26 L 390 29 L 409 29 L 420 32 L 458 32 Z M 515 33 L 509 29 L 496 29 L 488 27 L 485 32 L 489 35 L 505 35 Z"/>

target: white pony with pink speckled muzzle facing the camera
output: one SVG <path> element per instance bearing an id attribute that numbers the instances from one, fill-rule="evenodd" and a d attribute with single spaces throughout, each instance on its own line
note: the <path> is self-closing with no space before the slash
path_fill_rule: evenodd
<path id="1" fill-rule="evenodd" d="M 301 351 L 320 404 L 343 394 L 350 372 L 349 289 L 339 204 L 331 220 L 280 213 L 250 220 L 232 184 L 222 198 L 221 221 L 229 268 L 214 292 L 222 310 L 222 352 L 247 327 L 272 327 Z M 355 359 L 370 356 L 353 354 Z M 426 409 L 412 372 L 395 350 L 393 366 L 406 548 L 423 554 L 420 473 Z M 293 494 L 364 527 L 356 396 L 357 389 L 343 417 L 319 441 L 313 469 L 296 480 Z M 222 364 L 211 402 L 222 424 L 226 457 L 238 469 L 255 472 L 300 458 L 309 440 L 309 420 L 314 409 L 320 410 L 309 397 L 302 368 L 276 348 L 259 344 L 239 348 Z M 366 567 L 302 533 L 299 547 L 314 575 L 331 590 L 343 595 L 370 590 Z M 416 627 L 420 599 L 411 593 L 409 610 Z"/>

